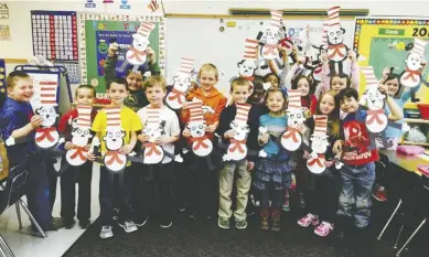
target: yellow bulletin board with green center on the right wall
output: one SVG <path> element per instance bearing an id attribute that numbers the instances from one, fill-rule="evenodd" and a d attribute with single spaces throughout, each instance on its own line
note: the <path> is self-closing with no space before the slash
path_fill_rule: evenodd
<path id="1" fill-rule="evenodd" d="M 356 18 L 353 49 L 364 56 L 360 66 L 373 66 L 377 78 L 382 78 L 385 67 L 396 67 L 394 73 L 401 74 L 406 68 L 405 60 L 412 49 L 414 39 L 429 41 L 429 19 L 406 18 Z M 425 51 L 425 60 L 429 62 L 429 44 Z M 422 78 L 429 81 L 429 65 L 422 72 Z M 361 74 L 362 94 L 365 78 Z M 429 88 L 425 85 L 416 94 L 420 103 L 429 104 Z M 406 108 L 417 108 L 408 101 Z"/>

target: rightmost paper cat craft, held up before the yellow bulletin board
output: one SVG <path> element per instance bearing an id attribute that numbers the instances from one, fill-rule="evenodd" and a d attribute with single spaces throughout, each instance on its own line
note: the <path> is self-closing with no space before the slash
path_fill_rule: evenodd
<path id="1" fill-rule="evenodd" d="M 411 101 L 416 103 L 420 99 L 416 98 L 416 87 L 423 83 L 426 86 L 429 86 L 429 83 L 425 81 L 421 76 L 421 68 L 425 56 L 425 47 L 429 41 L 415 38 L 414 46 L 410 53 L 405 60 L 407 68 L 400 74 L 399 82 L 401 85 L 409 87 L 411 93 Z"/>

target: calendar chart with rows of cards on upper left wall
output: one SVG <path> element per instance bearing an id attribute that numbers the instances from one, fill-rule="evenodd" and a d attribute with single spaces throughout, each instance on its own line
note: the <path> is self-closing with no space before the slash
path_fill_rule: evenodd
<path id="1" fill-rule="evenodd" d="M 76 12 L 31 11 L 33 53 L 50 61 L 77 61 Z"/>

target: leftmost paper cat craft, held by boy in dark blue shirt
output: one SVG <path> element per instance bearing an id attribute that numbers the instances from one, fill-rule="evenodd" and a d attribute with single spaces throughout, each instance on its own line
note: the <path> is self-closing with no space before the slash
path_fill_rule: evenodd
<path id="1" fill-rule="evenodd" d="M 56 93 L 58 84 L 56 82 L 40 83 L 40 106 L 35 108 L 35 115 L 42 117 L 41 127 L 35 129 L 35 144 L 41 149 L 51 149 L 60 142 L 60 133 L 56 130 Z"/>

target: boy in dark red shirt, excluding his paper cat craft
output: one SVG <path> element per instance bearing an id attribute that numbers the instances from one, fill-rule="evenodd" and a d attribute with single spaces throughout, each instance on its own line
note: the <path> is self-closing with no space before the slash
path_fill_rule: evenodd
<path id="1" fill-rule="evenodd" d="M 77 106 L 92 106 L 95 100 L 95 88 L 90 85 L 79 85 L 76 88 L 75 103 Z M 96 110 L 92 109 L 90 121 L 96 116 Z M 72 143 L 72 131 L 75 129 L 73 126 L 78 119 L 77 109 L 73 109 L 65 114 L 58 124 L 58 132 L 63 133 L 66 139 L 65 149 L 72 150 L 74 146 Z M 90 125 L 90 124 L 88 124 Z M 77 129 L 77 128 L 76 128 Z M 81 128 L 78 128 L 81 129 Z M 63 157 L 62 165 L 66 164 L 65 157 Z M 76 179 L 77 178 L 77 179 Z M 79 184 L 78 191 L 78 205 L 77 205 L 77 218 L 79 219 L 79 226 L 87 228 L 90 224 L 90 181 L 93 178 L 93 162 L 86 161 L 79 167 L 68 165 L 61 175 L 61 216 L 66 229 L 75 226 L 75 184 L 76 181 Z"/>

